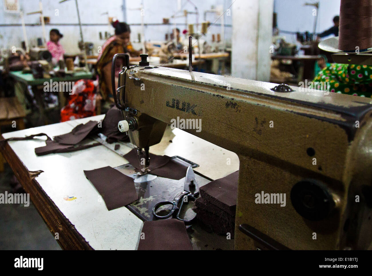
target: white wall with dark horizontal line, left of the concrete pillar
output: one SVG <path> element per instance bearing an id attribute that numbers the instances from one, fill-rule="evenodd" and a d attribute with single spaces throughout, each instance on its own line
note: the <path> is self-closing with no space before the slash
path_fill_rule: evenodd
<path id="1" fill-rule="evenodd" d="M 60 0 L 42 0 L 44 16 L 50 17 L 50 24 L 46 25 L 47 39 L 49 31 L 57 28 L 64 35 L 61 44 L 67 54 L 78 53 L 77 42 L 80 40 L 80 31 L 78 26 L 75 1 L 70 0 L 59 3 Z M 39 10 L 38 0 L 19 0 L 20 9 L 24 13 Z M 199 9 L 199 23 L 203 21 L 204 10 L 211 9 L 212 5 L 223 5 L 224 10 L 231 5 L 231 0 L 192 0 Z M 130 10 L 140 7 L 141 0 L 78 0 L 81 23 L 83 24 L 84 41 L 94 43 L 94 51 L 97 53 L 97 47 L 102 46 L 104 39 L 99 39 L 99 32 L 104 35 L 105 31 L 113 34 L 114 29 L 108 26 L 108 16 L 101 15 L 108 12 L 109 16 L 117 17 L 120 21 L 126 20 L 131 26 L 131 40 L 137 40 L 137 34 L 141 32 L 141 19 L 139 10 Z M 145 10 L 145 39 L 163 40 L 166 32 L 171 32 L 173 25 L 161 25 L 163 17 L 170 17 L 179 7 L 179 0 L 144 0 Z M 187 0 L 181 1 L 182 9 L 195 11 L 195 8 Z M 58 9 L 58 16 L 56 15 Z M 231 16 L 225 15 L 225 40 L 227 44 L 231 39 Z M 207 20 L 215 22 L 217 17 L 208 13 Z M 177 28 L 181 31 L 185 28 L 185 19 L 175 19 Z M 196 23 L 196 16 L 188 16 L 189 23 Z M 216 23 L 219 24 L 218 20 Z M 174 21 L 171 19 L 173 24 Z M 0 1 L 0 48 L 3 47 L 21 47 L 23 41 L 22 26 L 19 14 L 4 12 L 4 1 Z M 30 46 L 36 45 L 36 38 L 42 37 L 42 28 L 39 23 L 39 15 L 25 15 L 26 32 Z M 155 25 L 159 24 L 159 25 Z M 201 28 L 201 27 L 199 27 Z M 212 26 L 208 31 L 206 38 L 211 41 L 212 34 L 221 32 L 220 26 Z M 137 44 L 135 44 L 137 45 Z"/>

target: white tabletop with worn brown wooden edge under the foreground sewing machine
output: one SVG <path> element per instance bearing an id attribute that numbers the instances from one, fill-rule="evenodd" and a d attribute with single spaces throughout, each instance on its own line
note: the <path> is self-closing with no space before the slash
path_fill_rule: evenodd
<path id="1" fill-rule="evenodd" d="M 104 115 L 98 115 L 4 133 L 3 137 L 24 137 L 36 133 L 46 133 L 53 137 L 70 132 L 80 123 L 99 121 L 103 117 Z M 26 192 L 30 194 L 30 199 L 51 233 L 55 237 L 58 233 L 57 241 L 60 246 L 70 250 L 135 250 L 142 229 L 141 219 L 125 206 L 108 211 L 105 203 L 99 200 L 99 193 L 83 172 L 104 166 L 117 167 L 128 162 L 105 146 L 36 156 L 34 149 L 45 145 L 43 139 L 9 141 L 0 150 Z M 123 152 L 132 149 L 129 143 L 127 145 L 121 146 Z M 182 156 L 199 164 L 195 171 L 211 179 L 224 177 L 239 168 L 235 153 L 183 130 L 171 130 L 170 127 L 161 142 L 150 147 L 150 152 Z M 227 162 L 228 158 L 230 162 Z M 202 236 L 202 229 L 193 226 L 193 231 L 196 233 L 194 237 Z M 214 243 L 217 241 L 232 249 L 233 242 L 217 234 L 209 234 L 209 240 L 203 242 L 192 238 L 191 243 L 194 249 L 216 249 Z M 209 246 L 205 247 L 205 244 Z"/>

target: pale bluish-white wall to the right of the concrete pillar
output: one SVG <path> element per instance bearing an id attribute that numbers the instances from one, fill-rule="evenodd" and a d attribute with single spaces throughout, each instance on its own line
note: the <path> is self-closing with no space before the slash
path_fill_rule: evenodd
<path id="1" fill-rule="evenodd" d="M 323 32 L 333 26 L 333 17 L 340 15 L 341 0 L 317 0 L 319 4 L 318 21 L 316 32 Z M 312 0 L 275 0 L 274 12 L 278 15 L 278 29 L 289 32 L 310 33 L 314 28 L 314 7 L 304 6 L 305 3 L 314 3 Z M 286 41 L 294 43 L 295 34 L 280 32 L 279 35 L 286 37 Z"/>

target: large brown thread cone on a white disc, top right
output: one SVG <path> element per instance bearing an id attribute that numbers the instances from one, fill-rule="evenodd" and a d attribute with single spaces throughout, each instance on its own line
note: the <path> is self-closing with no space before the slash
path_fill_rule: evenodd
<path id="1" fill-rule="evenodd" d="M 340 50 L 363 52 L 371 48 L 372 0 L 341 0 L 339 30 Z"/>

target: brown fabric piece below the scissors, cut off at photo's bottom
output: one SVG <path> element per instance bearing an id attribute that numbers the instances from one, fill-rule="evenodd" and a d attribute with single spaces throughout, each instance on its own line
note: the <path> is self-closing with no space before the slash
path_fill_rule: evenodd
<path id="1" fill-rule="evenodd" d="M 178 219 L 145 221 L 138 250 L 192 250 L 185 223 Z"/>

